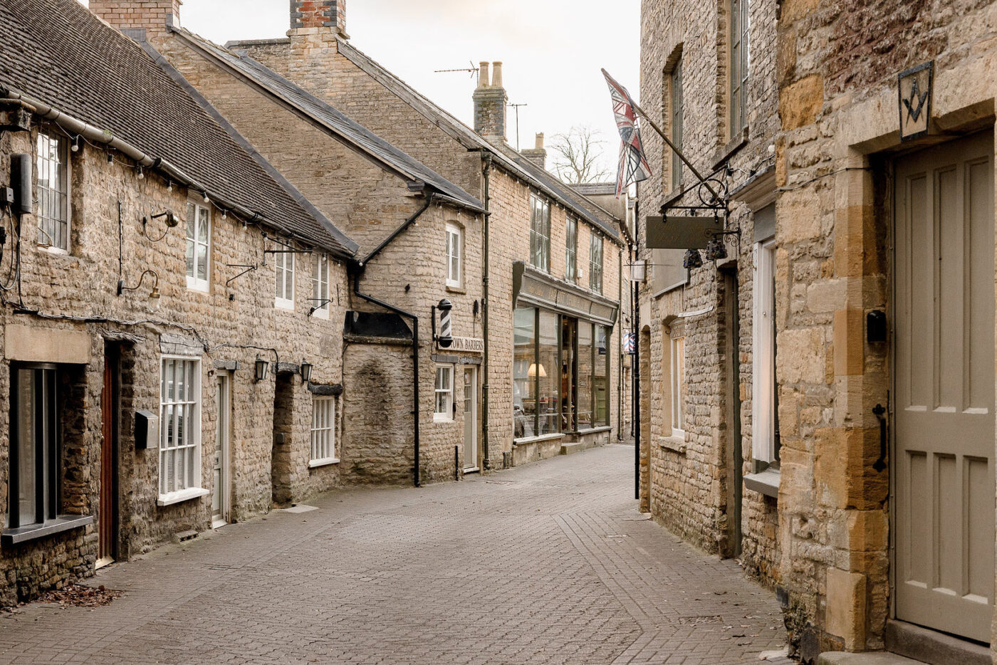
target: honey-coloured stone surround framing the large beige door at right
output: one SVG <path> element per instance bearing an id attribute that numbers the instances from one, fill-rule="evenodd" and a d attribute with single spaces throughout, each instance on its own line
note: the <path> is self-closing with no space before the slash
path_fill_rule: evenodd
<path id="1" fill-rule="evenodd" d="M 936 71 L 931 131 L 902 145 L 895 78 L 860 101 L 843 95 L 822 106 L 823 81 L 806 79 L 794 86 L 807 82 L 800 87 L 811 89 L 810 102 L 806 90 L 793 91 L 796 100 L 784 94 L 777 298 L 799 301 L 805 315 L 778 321 L 779 574 L 808 662 L 822 651 L 883 649 L 895 616 L 889 472 L 872 467 L 880 454 L 872 410 L 889 404 L 890 358 L 887 344 L 865 335 L 866 313 L 888 312 L 890 299 L 889 161 L 993 128 L 987 73 L 995 67 L 997 55 L 988 55 Z"/>

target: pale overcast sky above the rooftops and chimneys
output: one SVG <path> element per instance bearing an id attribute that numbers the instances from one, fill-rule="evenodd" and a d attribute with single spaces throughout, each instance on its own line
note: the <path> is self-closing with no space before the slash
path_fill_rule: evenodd
<path id="1" fill-rule="evenodd" d="M 184 0 L 180 23 L 219 44 L 283 37 L 288 2 Z M 619 138 L 599 68 L 638 98 L 640 0 L 347 0 L 346 31 L 353 46 L 469 125 L 476 80 L 434 70 L 501 61 L 509 103 L 528 105 L 519 108 L 520 147 L 532 148 L 537 132 L 549 145 L 587 125 L 601 133 L 608 179 L 615 177 Z"/>

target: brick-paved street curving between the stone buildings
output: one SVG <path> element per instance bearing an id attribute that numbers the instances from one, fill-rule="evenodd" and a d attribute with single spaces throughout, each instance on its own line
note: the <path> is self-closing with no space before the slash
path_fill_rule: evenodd
<path id="1" fill-rule="evenodd" d="M 632 459 L 230 524 L 102 569 L 126 591 L 106 607 L 0 614 L 0 663 L 761 663 L 785 644 L 774 594 L 637 512 Z"/>

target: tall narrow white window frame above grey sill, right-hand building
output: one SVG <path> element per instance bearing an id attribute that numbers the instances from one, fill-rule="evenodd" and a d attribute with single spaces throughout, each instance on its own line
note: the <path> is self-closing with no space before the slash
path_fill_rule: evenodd
<path id="1" fill-rule="evenodd" d="M 752 458 L 776 461 L 776 241 L 755 243 L 752 325 Z"/>

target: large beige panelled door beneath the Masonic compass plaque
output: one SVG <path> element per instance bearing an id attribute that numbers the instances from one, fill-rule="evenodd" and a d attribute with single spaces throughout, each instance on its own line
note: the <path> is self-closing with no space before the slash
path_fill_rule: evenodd
<path id="1" fill-rule="evenodd" d="M 896 616 L 990 641 L 993 135 L 897 162 Z"/>

